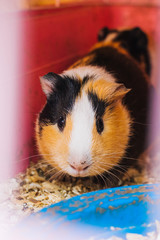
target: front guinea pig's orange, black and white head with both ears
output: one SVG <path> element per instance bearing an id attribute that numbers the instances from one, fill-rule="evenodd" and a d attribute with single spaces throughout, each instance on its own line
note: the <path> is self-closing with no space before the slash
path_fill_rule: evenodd
<path id="1" fill-rule="evenodd" d="M 40 78 L 47 102 L 36 124 L 40 153 L 55 169 L 74 177 L 109 172 L 125 153 L 129 91 L 97 67 L 79 67 Z"/>

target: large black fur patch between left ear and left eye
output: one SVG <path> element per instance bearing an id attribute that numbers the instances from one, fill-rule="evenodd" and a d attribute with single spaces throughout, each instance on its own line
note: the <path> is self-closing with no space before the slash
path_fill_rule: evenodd
<path id="1" fill-rule="evenodd" d="M 55 90 L 47 98 L 47 103 L 40 113 L 40 125 L 56 124 L 61 116 L 66 116 L 73 107 L 78 96 L 81 83 L 68 76 L 59 76 Z"/>

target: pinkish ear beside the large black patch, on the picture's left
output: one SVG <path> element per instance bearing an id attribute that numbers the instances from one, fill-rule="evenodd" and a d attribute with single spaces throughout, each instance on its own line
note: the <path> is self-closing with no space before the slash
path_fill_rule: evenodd
<path id="1" fill-rule="evenodd" d="M 58 78 L 59 78 L 59 75 L 52 72 L 49 72 L 48 74 L 40 77 L 42 90 L 45 93 L 47 98 L 55 90 L 55 85 Z"/>

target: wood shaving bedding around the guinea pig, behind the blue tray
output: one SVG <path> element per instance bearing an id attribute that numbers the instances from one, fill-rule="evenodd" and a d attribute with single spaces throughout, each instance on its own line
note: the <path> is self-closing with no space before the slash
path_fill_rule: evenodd
<path id="1" fill-rule="evenodd" d="M 139 168 L 128 170 L 119 186 L 160 182 L 160 152 L 149 153 L 141 157 Z M 103 181 L 93 183 L 90 178 L 52 179 L 51 171 L 51 167 L 42 161 L 31 162 L 26 172 L 0 184 L 0 228 L 5 230 L 30 213 L 61 200 L 106 188 Z"/>

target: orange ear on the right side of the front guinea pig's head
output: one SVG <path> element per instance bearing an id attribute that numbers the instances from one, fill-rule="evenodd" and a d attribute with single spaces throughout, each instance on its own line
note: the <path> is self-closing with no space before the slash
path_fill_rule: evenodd
<path id="1" fill-rule="evenodd" d="M 131 89 L 128 89 L 124 86 L 123 83 L 115 83 L 112 86 L 112 99 L 122 99 Z"/>

